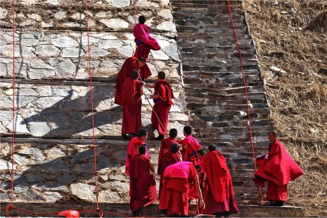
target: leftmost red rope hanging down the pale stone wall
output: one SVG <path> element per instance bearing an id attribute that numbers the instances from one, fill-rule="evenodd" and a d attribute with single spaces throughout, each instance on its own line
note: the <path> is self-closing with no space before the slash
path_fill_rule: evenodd
<path id="1" fill-rule="evenodd" d="M 14 195 L 14 156 L 15 156 L 15 0 L 12 0 L 12 146 L 11 146 L 11 188 L 10 205 L 13 206 Z"/>

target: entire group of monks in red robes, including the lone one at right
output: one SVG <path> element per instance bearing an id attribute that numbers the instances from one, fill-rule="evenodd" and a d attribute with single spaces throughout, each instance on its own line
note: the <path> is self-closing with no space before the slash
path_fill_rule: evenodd
<path id="1" fill-rule="evenodd" d="M 154 166 L 148 152 L 148 131 L 142 127 L 141 96 L 144 87 L 153 88 L 151 115 L 153 128 L 161 140 L 157 174 L 160 176 L 158 191 L 159 210 L 162 215 L 185 217 L 189 215 L 189 202 L 196 200 L 197 213 L 228 217 L 237 213 L 238 207 L 233 192 L 232 178 L 226 159 L 215 144 L 208 149 L 192 136 L 192 128 L 185 126 L 184 138 L 176 139 L 176 129 L 169 131 L 168 114 L 174 99 L 164 71 L 159 71 L 154 85 L 145 79 L 152 74 L 147 66 L 150 50 L 160 50 L 158 42 L 150 36 L 145 17 L 139 16 L 133 30 L 136 51 L 127 58 L 116 79 L 114 103 L 123 107 L 122 138 L 132 135 L 127 148 L 126 174 L 130 177 L 130 208 L 133 216 L 140 216 L 142 208 L 157 200 Z M 260 187 L 267 182 L 266 199 L 271 206 L 283 206 L 287 199 L 287 184 L 303 175 L 301 168 L 289 156 L 275 131 L 269 132 L 269 153 L 256 157 L 259 165 L 254 174 L 254 183 Z"/>

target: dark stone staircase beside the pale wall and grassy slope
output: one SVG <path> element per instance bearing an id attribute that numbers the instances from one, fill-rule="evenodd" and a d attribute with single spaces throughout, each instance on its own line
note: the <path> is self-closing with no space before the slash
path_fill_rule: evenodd
<path id="1" fill-rule="evenodd" d="M 252 182 L 254 166 L 239 54 L 226 1 L 171 1 L 182 62 L 186 107 L 195 136 L 215 143 L 227 158 L 239 203 L 261 199 Z M 255 47 L 241 2 L 231 9 L 247 82 L 255 152 L 267 150 L 269 109 Z"/>

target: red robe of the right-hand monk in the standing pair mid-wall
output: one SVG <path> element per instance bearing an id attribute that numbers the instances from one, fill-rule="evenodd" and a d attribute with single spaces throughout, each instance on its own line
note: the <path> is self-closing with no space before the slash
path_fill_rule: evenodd
<path id="1" fill-rule="evenodd" d="M 153 106 L 151 123 L 159 135 L 165 135 L 168 127 L 168 114 L 172 105 L 174 94 L 172 87 L 166 80 L 159 80 L 154 85 L 154 94 L 159 94 L 158 101 Z M 155 100 L 154 100 L 155 101 Z"/>

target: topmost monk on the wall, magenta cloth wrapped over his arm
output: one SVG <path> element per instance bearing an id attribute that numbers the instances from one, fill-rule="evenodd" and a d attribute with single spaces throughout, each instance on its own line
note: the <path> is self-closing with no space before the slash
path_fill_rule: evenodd
<path id="1" fill-rule="evenodd" d="M 138 17 L 138 23 L 134 26 L 133 34 L 135 36 L 136 51 L 134 57 L 143 57 L 148 59 L 150 50 L 160 50 L 160 45 L 155 38 L 150 36 L 150 29 L 145 25 L 145 16 Z"/>

